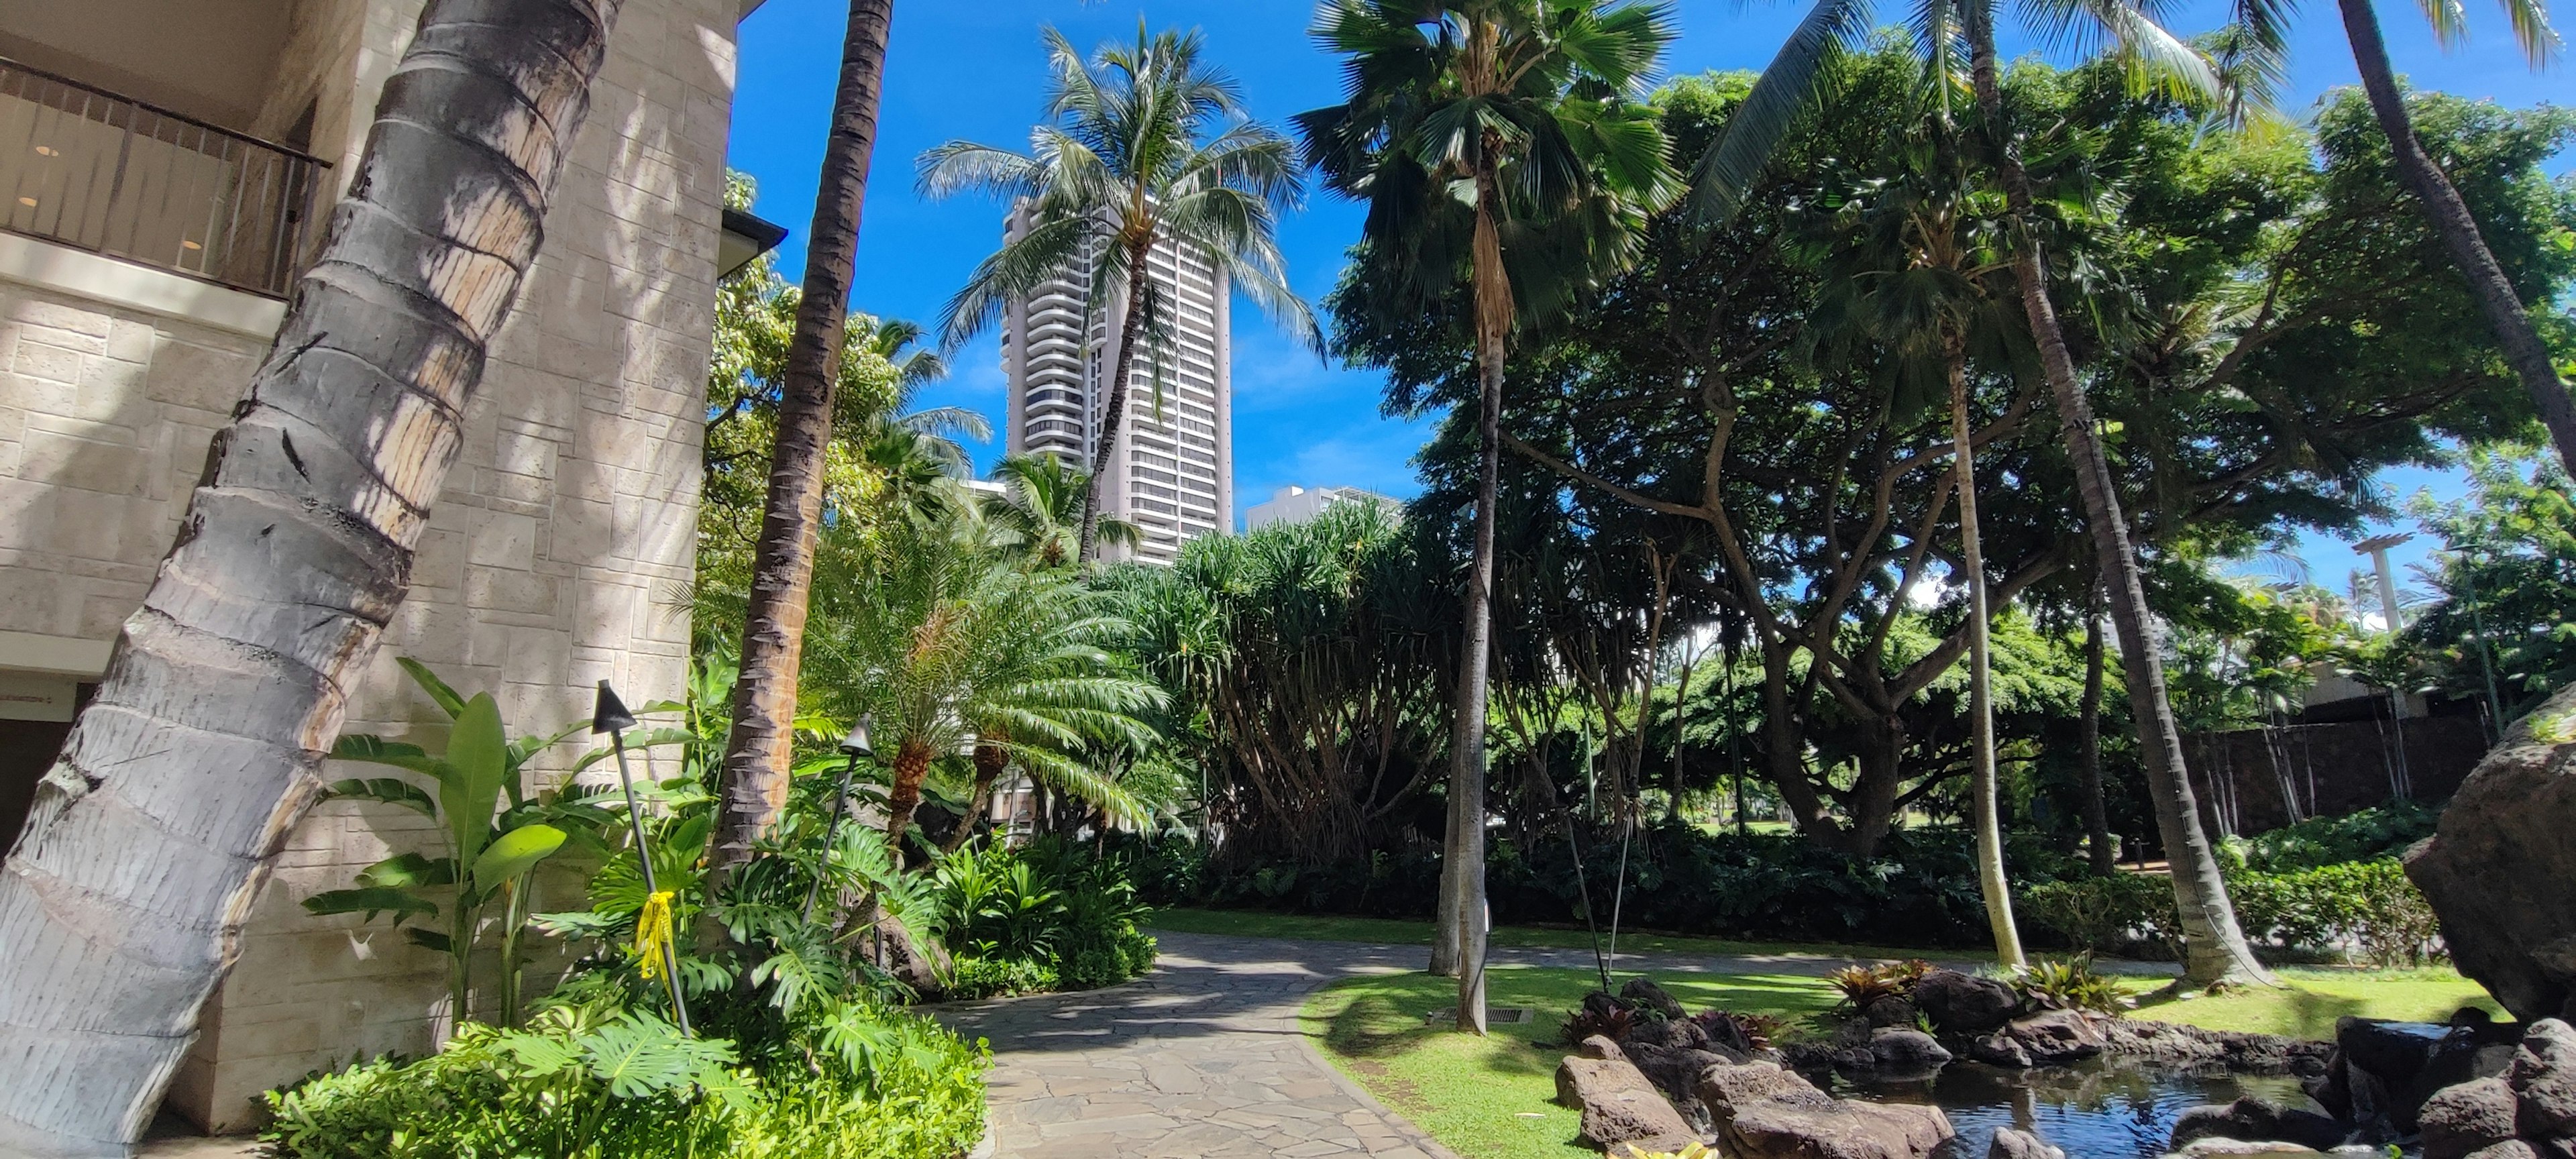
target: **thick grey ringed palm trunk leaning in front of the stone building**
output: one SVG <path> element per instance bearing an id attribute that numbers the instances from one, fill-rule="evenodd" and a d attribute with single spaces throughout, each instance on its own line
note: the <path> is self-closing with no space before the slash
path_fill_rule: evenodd
<path id="1" fill-rule="evenodd" d="M 0 868 L 0 1154 L 121 1156 L 319 798 L 618 0 L 433 0 Z"/>

